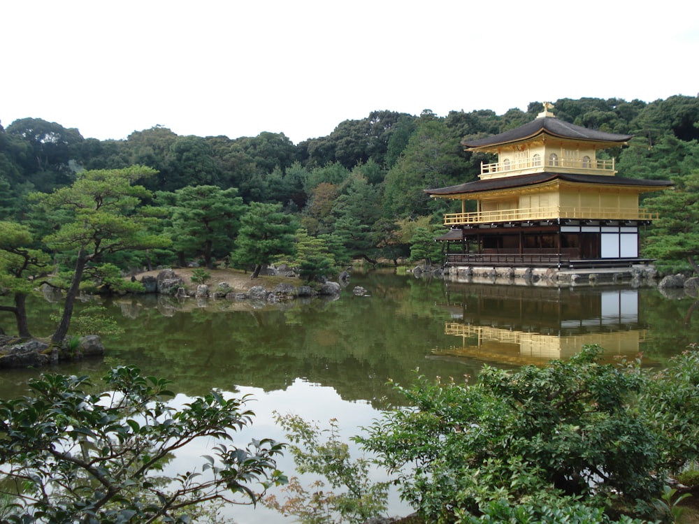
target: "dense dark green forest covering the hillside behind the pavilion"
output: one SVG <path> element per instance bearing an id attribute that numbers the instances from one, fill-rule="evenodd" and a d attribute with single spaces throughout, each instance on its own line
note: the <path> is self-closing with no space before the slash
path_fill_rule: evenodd
<path id="1" fill-rule="evenodd" d="M 604 153 L 617 158 L 619 176 L 669 179 L 699 168 L 696 97 L 651 103 L 560 99 L 554 105 L 565 121 L 634 135 L 628 147 Z M 117 265 L 192 259 L 211 265 L 227 259 L 236 248 L 239 219 L 252 203 L 290 215 L 307 240 L 324 239 L 338 265 L 354 258 L 396 261 L 410 256 L 416 229 L 423 236 L 438 231 L 442 214 L 456 211 L 449 201 L 427 198 L 423 189 L 476 180 L 480 163 L 493 161 L 463 151 L 461 140 L 519 126 L 541 109 L 542 103 L 532 102 L 526 112 L 512 109 L 504 115 L 375 111 L 340 122 L 329 136 L 296 145 L 283 133 L 178 136 L 162 126 L 134 131 L 126 140 L 96 140 L 59 123 L 18 119 L 0 126 L 0 220 L 33 220 L 45 229 L 52 220 L 32 215 L 32 193 L 69 186 L 82 170 L 139 165 L 157 170 L 136 183 L 151 191 L 144 203 L 162 211 L 162 228 L 173 245 L 151 250 L 148 260 L 140 255 Z M 199 221 L 194 215 L 206 199 L 218 201 L 219 209 Z"/>

